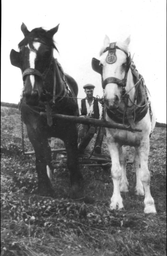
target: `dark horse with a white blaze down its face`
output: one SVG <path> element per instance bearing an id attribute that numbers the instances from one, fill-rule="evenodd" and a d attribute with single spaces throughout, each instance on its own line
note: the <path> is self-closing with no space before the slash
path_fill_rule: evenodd
<path id="1" fill-rule="evenodd" d="M 50 182 L 53 166 L 48 138 L 56 137 L 63 140 L 67 152 L 70 197 L 79 198 L 82 197 L 83 178 L 78 167 L 76 125 L 52 118 L 52 112 L 78 115 L 77 84 L 72 77 L 64 75 L 53 57 L 53 49 L 57 50 L 53 35 L 58 26 L 48 31 L 35 28 L 30 32 L 22 23 L 24 39 L 18 44 L 19 52 L 11 50 L 10 61 L 22 72 L 24 88 L 20 111 L 35 151 L 39 194 L 53 195 Z M 46 116 L 41 116 L 40 112 L 45 112 Z"/>

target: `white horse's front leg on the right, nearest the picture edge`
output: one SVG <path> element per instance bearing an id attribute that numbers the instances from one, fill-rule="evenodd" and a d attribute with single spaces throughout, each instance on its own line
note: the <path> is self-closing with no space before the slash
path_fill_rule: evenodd
<path id="1" fill-rule="evenodd" d="M 149 156 L 149 138 L 146 138 L 141 142 L 141 145 L 136 148 L 137 153 L 140 158 L 140 165 L 138 169 L 139 178 L 143 184 L 144 191 L 145 191 L 145 199 L 144 199 L 144 212 L 145 213 L 156 213 L 154 199 L 150 193 L 150 172 L 148 170 L 148 156 Z"/>

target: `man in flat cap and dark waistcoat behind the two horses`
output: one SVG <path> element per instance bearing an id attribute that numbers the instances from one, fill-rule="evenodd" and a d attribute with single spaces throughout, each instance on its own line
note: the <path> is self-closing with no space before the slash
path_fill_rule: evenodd
<path id="1" fill-rule="evenodd" d="M 95 86 L 92 84 L 87 84 L 83 86 L 83 89 L 85 90 L 85 93 L 87 97 L 85 99 L 81 100 L 81 106 L 79 108 L 80 110 L 80 116 L 81 117 L 90 117 L 90 118 L 96 118 L 101 119 L 102 117 L 102 105 L 99 103 L 99 100 L 93 96 L 94 94 L 94 88 Z M 94 136 L 96 129 L 94 127 L 91 127 L 90 125 L 79 125 L 79 148 L 82 148 L 82 142 L 83 138 L 87 136 L 91 139 L 91 137 Z M 89 141 L 89 138 L 87 141 Z M 97 141 L 97 146 L 95 148 L 96 153 L 101 153 L 101 145 L 103 142 L 103 132 L 99 135 L 99 141 Z M 87 142 L 85 141 L 87 144 Z M 90 145 L 87 145 L 87 150 L 90 151 Z"/>

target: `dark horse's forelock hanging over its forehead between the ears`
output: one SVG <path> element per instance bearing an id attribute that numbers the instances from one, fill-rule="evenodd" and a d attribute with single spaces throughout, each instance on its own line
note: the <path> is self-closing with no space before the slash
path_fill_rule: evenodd
<path id="1" fill-rule="evenodd" d="M 32 29 L 31 32 L 28 33 L 28 35 L 26 35 L 21 42 L 19 42 L 18 47 L 20 48 L 23 45 L 29 44 L 31 50 L 34 50 L 33 42 L 37 41 L 38 39 L 39 42 L 41 41 L 47 45 L 50 45 L 58 51 L 53 38 L 50 38 L 46 31 L 47 30 L 43 29 L 42 27 Z"/>

